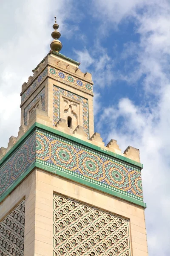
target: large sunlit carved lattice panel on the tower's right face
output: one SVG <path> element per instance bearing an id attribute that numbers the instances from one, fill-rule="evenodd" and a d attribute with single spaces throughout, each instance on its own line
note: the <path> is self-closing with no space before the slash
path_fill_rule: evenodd
<path id="1" fill-rule="evenodd" d="M 129 221 L 54 194 L 54 256 L 130 256 Z"/>

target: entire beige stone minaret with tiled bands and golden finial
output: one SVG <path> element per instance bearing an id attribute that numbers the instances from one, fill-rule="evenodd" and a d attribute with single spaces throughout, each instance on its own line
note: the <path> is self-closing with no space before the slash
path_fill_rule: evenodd
<path id="1" fill-rule="evenodd" d="M 94 132 L 91 74 L 53 28 L 0 148 L 0 256 L 147 256 L 139 150 Z"/>

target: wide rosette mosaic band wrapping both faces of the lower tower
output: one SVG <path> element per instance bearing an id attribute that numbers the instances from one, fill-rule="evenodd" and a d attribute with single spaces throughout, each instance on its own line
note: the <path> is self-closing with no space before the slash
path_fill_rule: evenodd
<path id="1" fill-rule="evenodd" d="M 78 179 L 82 184 L 88 182 L 96 189 L 108 189 L 111 194 L 126 196 L 127 200 L 143 201 L 140 167 L 40 128 L 36 128 L 1 164 L 0 198 L 7 195 L 35 163 Z"/>

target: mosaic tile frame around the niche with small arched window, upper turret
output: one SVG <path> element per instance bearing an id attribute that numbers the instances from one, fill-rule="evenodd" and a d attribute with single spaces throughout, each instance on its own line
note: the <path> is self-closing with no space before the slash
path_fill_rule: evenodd
<path id="1" fill-rule="evenodd" d="M 85 99 L 81 96 L 78 96 L 74 93 L 71 93 L 67 90 L 63 90 L 57 86 L 53 86 L 53 125 L 59 121 L 59 94 L 68 96 L 71 99 L 76 99 L 79 102 L 82 102 L 82 120 L 83 120 L 83 129 L 89 139 L 89 123 L 88 123 L 88 99 Z"/>

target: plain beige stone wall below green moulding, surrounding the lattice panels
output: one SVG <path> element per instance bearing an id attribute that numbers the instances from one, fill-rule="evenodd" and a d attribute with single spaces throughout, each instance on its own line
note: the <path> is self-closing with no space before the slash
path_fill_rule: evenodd
<path id="1" fill-rule="evenodd" d="M 0 206 L 1 220 L 18 202 L 26 198 L 24 256 L 53 255 L 54 192 L 127 218 L 130 221 L 131 255 L 148 255 L 142 207 L 40 169 L 34 169 Z"/>

